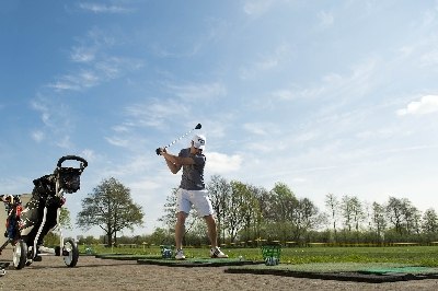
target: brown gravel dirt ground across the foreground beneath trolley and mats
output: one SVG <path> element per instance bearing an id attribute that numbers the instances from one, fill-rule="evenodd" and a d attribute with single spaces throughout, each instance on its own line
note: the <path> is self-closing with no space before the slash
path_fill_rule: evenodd
<path id="1" fill-rule="evenodd" d="M 11 260 L 3 251 L 0 260 Z M 43 257 L 0 277 L 0 290 L 438 290 L 438 280 L 358 283 L 270 275 L 226 273 L 224 267 L 165 267 L 80 256 L 68 268 L 61 257 Z"/>

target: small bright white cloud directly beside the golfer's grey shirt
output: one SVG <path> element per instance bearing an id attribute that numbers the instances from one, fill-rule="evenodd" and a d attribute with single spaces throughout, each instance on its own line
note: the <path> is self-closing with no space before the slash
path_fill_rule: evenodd
<path id="1" fill-rule="evenodd" d="M 243 161 L 239 154 L 229 156 L 223 153 L 208 152 L 206 156 L 206 172 L 210 174 L 226 174 L 239 171 Z"/>

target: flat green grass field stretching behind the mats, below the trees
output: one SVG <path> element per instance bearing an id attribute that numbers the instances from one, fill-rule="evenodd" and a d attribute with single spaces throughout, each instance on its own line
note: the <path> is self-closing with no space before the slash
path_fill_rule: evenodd
<path id="1" fill-rule="evenodd" d="M 146 248 L 80 246 L 82 254 L 136 254 L 160 255 L 158 246 Z M 222 248 L 230 258 L 243 257 L 247 260 L 262 260 L 261 248 Z M 185 248 L 187 258 L 208 257 L 208 248 Z M 392 247 L 284 247 L 280 263 L 399 263 L 415 266 L 438 267 L 438 246 L 392 246 Z"/>

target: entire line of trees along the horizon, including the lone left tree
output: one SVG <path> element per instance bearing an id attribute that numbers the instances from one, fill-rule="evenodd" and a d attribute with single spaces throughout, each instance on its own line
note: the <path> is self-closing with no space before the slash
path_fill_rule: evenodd
<path id="1" fill-rule="evenodd" d="M 221 244 L 257 240 L 320 243 L 427 243 L 438 241 L 438 214 L 434 208 L 419 211 L 407 198 L 390 196 L 384 203 L 360 200 L 355 195 L 327 194 L 324 209 L 309 198 L 298 197 L 286 184 L 269 190 L 215 175 L 206 185 Z M 142 208 L 130 197 L 129 188 L 115 178 L 102 182 L 82 200 L 77 224 L 81 229 L 99 225 L 103 243 L 172 244 L 176 188 L 166 197 L 162 228 L 152 234 L 117 237 L 125 229 L 143 223 Z M 89 237 L 90 238 L 90 237 Z M 208 243 L 205 223 L 192 213 L 186 221 L 185 244 Z"/>

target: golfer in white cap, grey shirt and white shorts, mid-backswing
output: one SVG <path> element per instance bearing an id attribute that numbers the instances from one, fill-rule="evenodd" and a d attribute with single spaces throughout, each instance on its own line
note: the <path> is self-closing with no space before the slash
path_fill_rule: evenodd
<path id="1" fill-rule="evenodd" d="M 181 185 L 176 191 L 175 259 L 185 259 L 183 234 L 185 220 L 192 207 L 196 209 L 199 217 L 204 217 L 207 223 L 208 238 L 211 244 L 210 257 L 228 258 L 228 255 L 218 247 L 214 210 L 204 184 L 206 156 L 203 154 L 203 150 L 205 143 L 205 137 L 196 135 L 192 139 L 191 147 L 182 149 L 177 156 L 168 153 L 165 149 L 160 149 L 160 154 L 164 156 L 165 163 L 173 174 L 183 168 Z"/>

